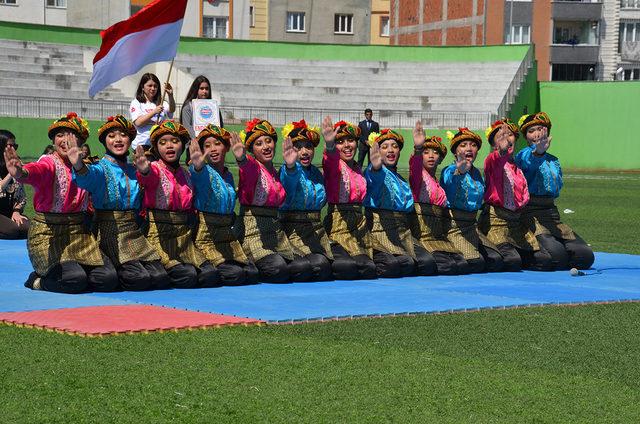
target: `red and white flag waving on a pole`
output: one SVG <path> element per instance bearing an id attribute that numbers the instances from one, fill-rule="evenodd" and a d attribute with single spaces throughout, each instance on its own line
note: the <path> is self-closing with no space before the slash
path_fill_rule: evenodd
<path id="1" fill-rule="evenodd" d="M 126 21 L 101 31 L 89 97 L 145 65 L 172 60 L 186 8 L 187 0 L 155 0 Z"/>

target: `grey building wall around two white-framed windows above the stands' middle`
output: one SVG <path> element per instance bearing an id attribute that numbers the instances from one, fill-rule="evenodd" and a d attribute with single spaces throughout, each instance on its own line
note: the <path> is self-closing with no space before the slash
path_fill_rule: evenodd
<path id="1" fill-rule="evenodd" d="M 305 31 L 287 32 L 287 12 L 305 13 Z M 335 34 L 336 13 L 353 15 L 353 34 Z M 370 0 L 270 0 L 269 40 L 331 44 L 369 44 Z"/>

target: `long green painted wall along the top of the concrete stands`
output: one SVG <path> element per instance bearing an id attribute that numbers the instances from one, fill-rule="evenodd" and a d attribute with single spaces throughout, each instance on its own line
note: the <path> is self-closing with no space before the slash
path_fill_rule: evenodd
<path id="1" fill-rule="evenodd" d="M 0 39 L 99 46 L 98 30 L 18 24 L 0 21 Z M 396 62 L 520 61 L 529 46 L 409 47 L 213 40 L 182 37 L 180 53 L 259 56 L 309 60 L 370 60 Z"/>

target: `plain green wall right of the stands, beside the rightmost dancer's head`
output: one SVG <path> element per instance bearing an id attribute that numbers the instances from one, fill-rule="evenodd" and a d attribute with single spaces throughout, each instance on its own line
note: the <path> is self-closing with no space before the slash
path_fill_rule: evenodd
<path id="1" fill-rule="evenodd" d="M 540 82 L 564 168 L 640 170 L 640 82 Z"/>

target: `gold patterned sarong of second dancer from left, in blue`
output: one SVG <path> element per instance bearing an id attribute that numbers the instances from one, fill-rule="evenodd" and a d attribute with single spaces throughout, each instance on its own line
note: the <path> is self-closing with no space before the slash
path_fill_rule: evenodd
<path id="1" fill-rule="evenodd" d="M 96 210 L 98 244 L 116 267 L 129 261 L 157 261 L 160 256 L 142 234 L 135 211 Z"/>

